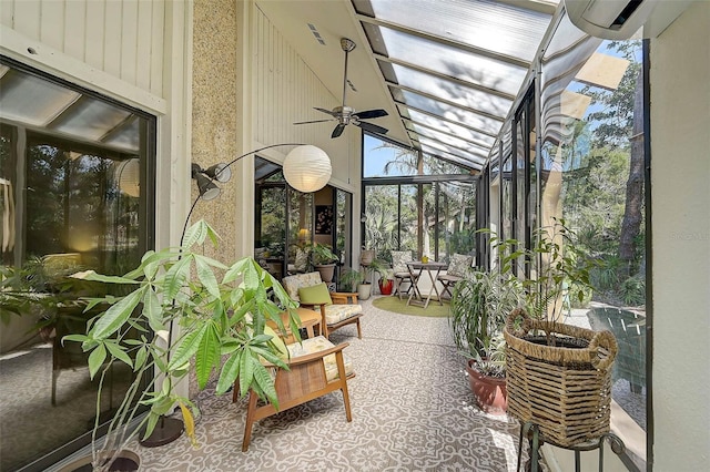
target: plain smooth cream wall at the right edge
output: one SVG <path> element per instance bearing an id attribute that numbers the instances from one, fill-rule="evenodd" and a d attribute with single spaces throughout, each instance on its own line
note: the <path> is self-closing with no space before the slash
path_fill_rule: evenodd
<path id="1" fill-rule="evenodd" d="M 651 40 L 653 471 L 710 464 L 710 2 Z"/>

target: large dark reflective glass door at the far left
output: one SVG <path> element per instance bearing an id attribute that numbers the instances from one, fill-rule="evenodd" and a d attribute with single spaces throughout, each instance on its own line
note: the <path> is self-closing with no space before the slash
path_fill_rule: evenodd
<path id="1" fill-rule="evenodd" d="M 105 289 L 68 276 L 124 274 L 152 247 L 155 121 L 20 64 L 0 72 L 0 469 L 42 469 L 90 441 L 98 380 L 61 338 L 85 332 L 81 297 Z M 132 373 L 108 379 L 102 418 Z"/>

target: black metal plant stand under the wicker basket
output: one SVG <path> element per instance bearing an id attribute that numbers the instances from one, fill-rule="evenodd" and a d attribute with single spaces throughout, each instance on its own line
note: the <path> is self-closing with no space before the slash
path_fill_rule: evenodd
<path id="1" fill-rule="evenodd" d="M 527 437 L 530 443 L 530 460 L 529 466 L 526 470 L 530 472 L 538 472 L 540 470 L 539 464 L 539 449 L 542 445 L 544 440 L 540 434 L 540 428 L 532 423 L 531 421 L 526 422 L 520 427 L 520 441 L 518 442 L 518 463 L 516 465 L 516 472 L 520 470 L 520 461 L 523 459 L 523 438 Z M 575 444 L 575 445 L 559 445 L 551 441 L 547 441 L 550 445 L 555 445 L 556 448 L 567 449 L 569 451 L 575 451 L 575 472 L 581 471 L 581 452 L 582 451 L 594 451 L 595 449 L 599 450 L 599 472 L 604 471 L 604 441 L 608 440 L 611 445 L 611 451 L 615 454 L 621 455 L 626 451 L 626 445 L 621 439 L 613 433 L 605 433 L 601 434 L 598 439 L 589 440 L 584 443 Z"/>

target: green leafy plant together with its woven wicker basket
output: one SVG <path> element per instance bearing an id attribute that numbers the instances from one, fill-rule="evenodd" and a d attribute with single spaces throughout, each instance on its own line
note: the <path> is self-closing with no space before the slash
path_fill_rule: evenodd
<path id="1" fill-rule="evenodd" d="M 595 263 L 575 245 L 575 234 L 559 220 L 538 232 L 537 240 L 532 250 L 518 252 L 518 260 L 537 259 L 537 277 L 525 281 L 527 309 L 510 312 L 504 328 L 508 413 L 566 448 L 609 432 L 617 342 L 609 331 L 558 320 L 569 287 L 590 287 Z M 584 296 L 578 293 L 580 300 Z"/>

